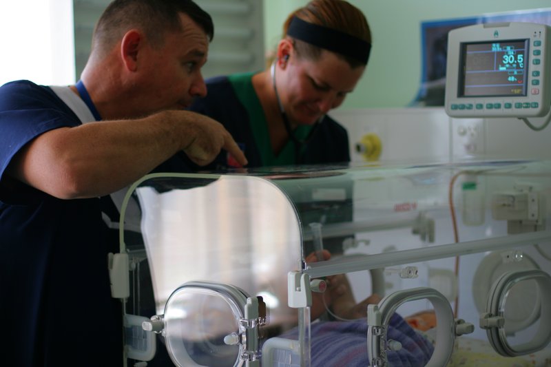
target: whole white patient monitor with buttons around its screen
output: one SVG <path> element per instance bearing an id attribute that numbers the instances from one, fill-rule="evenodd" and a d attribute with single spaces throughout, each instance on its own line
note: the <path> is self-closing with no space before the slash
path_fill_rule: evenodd
<path id="1" fill-rule="evenodd" d="M 550 26 L 488 23 L 449 32 L 449 116 L 526 118 L 550 107 Z"/>

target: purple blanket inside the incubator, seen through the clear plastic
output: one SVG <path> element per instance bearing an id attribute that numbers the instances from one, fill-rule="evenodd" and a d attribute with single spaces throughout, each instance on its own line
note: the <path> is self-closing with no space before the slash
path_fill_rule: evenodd
<path id="1" fill-rule="evenodd" d="M 311 325 L 312 366 L 368 366 L 367 322 L 358 319 L 350 322 L 315 322 Z M 281 337 L 297 339 L 295 328 Z M 396 313 L 391 317 L 387 338 L 402 343 L 402 349 L 388 351 L 391 366 L 425 366 L 433 353 L 433 345 Z"/>

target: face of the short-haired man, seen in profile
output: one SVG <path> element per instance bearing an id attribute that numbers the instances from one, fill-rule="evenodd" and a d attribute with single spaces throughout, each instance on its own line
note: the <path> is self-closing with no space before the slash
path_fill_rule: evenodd
<path id="1" fill-rule="evenodd" d="M 139 95 L 134 108 L 141 114 L 183 109 L 195 97 L 207 94 L 201 67 L 207 62 L 209 39 L 186 14 L 180 14 L 180 19 L 183 32 L 167 33 L 161 48 L 147 46 L 138 54 L 143 60 L 135 81 Z"/>

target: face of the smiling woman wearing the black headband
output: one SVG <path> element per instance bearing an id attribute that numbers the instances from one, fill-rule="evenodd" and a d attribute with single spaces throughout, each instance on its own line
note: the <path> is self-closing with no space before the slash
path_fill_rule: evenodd
<path id="1" fill-rule="evenodd" d="M 292 54 L 282 70 L 278 92 L 293 125 L 311 125 L 342 104 L 353 91 L 365 70 L 352 69 L 333 52 L 322 50 L 318 61 L 300 59 Z"/>

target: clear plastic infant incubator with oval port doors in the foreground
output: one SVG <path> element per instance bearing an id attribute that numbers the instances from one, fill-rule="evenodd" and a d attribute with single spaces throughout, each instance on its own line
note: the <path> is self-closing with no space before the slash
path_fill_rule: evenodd
<path id="1" fill-rule="evenodd" d="M 542 160 L 145 176 L 111 266 L 129 364 L 546 366 L 550 194 Z M 337 277 L 382 300 L 337 313 Z"/>

